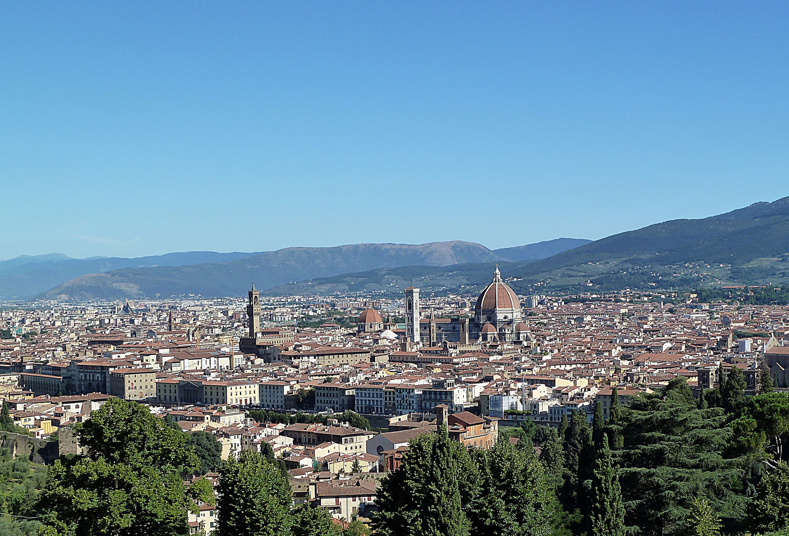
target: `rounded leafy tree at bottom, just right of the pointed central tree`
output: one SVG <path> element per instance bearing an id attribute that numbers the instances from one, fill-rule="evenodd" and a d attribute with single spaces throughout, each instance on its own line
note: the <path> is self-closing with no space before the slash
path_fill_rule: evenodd
<path id="1" fill-rule="evenodd" d="M 530 441 L 529 441 L 530 443 Z M 471 534 L 550 534 L 560 507 L 534 449 L 499 441 L 494 449 L 473 450 L 478 488 L 464 504 Z"/>

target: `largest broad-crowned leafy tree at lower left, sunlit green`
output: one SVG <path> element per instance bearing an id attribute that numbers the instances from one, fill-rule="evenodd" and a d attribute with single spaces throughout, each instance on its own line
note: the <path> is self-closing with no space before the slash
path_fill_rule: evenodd
<path id="1" fill-rule="evenodd" d="M 183 484 L 181 475 L 199 467 L 186 434 L 146 406 L 117 398 L 75 428 L 85 454 L 51 468 L 41 534 L 189 534 L 187 510 L 212 499 L 210 486 Z"/>

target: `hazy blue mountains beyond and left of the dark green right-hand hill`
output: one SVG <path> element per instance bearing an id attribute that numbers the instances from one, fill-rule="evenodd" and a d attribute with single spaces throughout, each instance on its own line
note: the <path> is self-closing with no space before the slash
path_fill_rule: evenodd
<path id="1" fill-rule="evenodd" d="M 24 300 L 46 292 L 60 299 L 108 300 L 199 294 L 243 294 L 250 281 L 270 288 L 288 281 L 349 271 L 418 264 L 542 259 L 589 240 L 560 238 L 492 251 L 472 242 L 352 244 L 335 248 L 285 248 L 258 253 L 188 251 L 138 259 L 69 259 L 41 255 L 0 262 L 0 297 Z M 28 262 L 25 262 L 28 261 Z"/>

